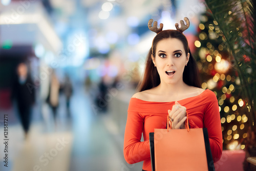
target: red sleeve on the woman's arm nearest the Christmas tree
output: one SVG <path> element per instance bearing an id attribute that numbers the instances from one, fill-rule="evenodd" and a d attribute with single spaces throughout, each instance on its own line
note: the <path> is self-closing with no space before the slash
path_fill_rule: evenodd
<path id="1" fill-rule="evenodd" d="M 216 96 L 212 97 L 212 100 L 206 105 L 204 127 L 208 130 L 212 158 L 214 162 L 217 162 L 222 155 L 222 130 L 219 105 Z"/>

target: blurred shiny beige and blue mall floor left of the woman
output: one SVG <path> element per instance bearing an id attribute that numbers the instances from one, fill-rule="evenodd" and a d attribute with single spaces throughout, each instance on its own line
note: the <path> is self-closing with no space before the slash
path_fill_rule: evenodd
<path id="1" fill-rule="evenodd" d="M 117 171 L 141 170 L 142 163 L 127 164 L 123 158 L 123 134 L 118 134 L 108 112 L 92 111 L 90 93 L 77 84 L 71 99 L 70 115 L 60 96 L 58 117 L 53 121 L 47 104 L 33 109 L 28 137 L 19 124 L 15 109 L 8 115 L 8 167 L 4 163 L 4 117 L 0 119 L 0 168 L 9 171 Z M 15 107 L 14 107 L 15 108 Z M 124 125 L 125 126 L 125 125 Z"/>

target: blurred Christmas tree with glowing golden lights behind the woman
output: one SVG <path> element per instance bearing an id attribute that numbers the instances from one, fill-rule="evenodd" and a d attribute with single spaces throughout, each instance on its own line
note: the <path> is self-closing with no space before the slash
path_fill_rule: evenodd
<path id="1" fill-rule="evenodd" d="M 214 91 L 217 96 L 223 149 L 244 149 L 249 123 L 238 72 L 233 67 L 232 56 L 217 21 L 208 12 L 203 13 L 200 19 L 194 56 L 200 70 L 202 88 Z M 245 60 L 249 59 L 245 56 Z"/>

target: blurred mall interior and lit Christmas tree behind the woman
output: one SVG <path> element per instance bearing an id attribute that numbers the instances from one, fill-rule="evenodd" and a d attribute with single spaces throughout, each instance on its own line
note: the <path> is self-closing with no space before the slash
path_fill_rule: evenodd
<path id="1" fill-rule="evenodd" d="M 243 150 L 245 101 L 203 1 L 1 0 L 1 170 L 141 170 L 125 162 L 123 135 L 155 36 L 147 23 L 175 29 L 185 16 L 202 87 L 219 101 L 223 149 Z"/>

